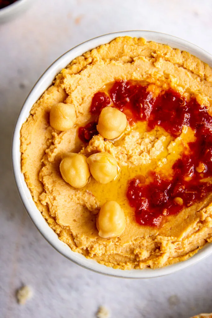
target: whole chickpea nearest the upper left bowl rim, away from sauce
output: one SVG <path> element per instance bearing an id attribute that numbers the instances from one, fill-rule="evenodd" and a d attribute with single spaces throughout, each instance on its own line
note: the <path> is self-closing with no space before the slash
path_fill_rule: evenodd
<path id="1" fill-rule="evenodd" d="M 58 103 L 51 107 L 50 125 L 61 131 L 71 129 L 76 121 L 75 108 L 71 104 Z"/>

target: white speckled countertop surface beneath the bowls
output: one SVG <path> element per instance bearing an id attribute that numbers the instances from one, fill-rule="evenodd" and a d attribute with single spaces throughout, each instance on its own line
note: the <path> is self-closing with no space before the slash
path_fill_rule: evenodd
<path id="1" fill-rule="evenodd" d="M 38 77 L 59 55 L 98 35 L 124 30 L 169 33 L 212 53 L 211 0 L 35 0 L 0 25 L 0 317 L 188 318 L 212 312 L 212 256 L 178 273 L 146 280 L 110 278 L 56 252 L 28 218 L 10 165 L 20 108 Z M 15 291 L 34 296 L 18 305 Z"/>

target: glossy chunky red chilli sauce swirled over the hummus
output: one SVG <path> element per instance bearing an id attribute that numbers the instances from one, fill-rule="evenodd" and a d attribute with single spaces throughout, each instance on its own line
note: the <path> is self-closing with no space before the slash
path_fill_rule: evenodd
<path id="1" fill-rule="evenodd" d="M 201 181 L 212 176 L 212 117 L 195 98 L 187 101 L 173 90 L 154 98 L 147 86 L 117 81 L 109 95 L 104 92 L 94 95 L 91 113 L 99 115 L 112 102 L 130 123 L 147 121 L 149 129 L 159 125 L 174 137 L 180 135 L 184 125 L 195 130 L 196 141 L 189 143 L 189 154 L 183 154 L 174 163 L 171 180 L 152 173 L 149 184 L 142 183 L 139 176 L 129 181 L 127 198 L 140 225 L 159 226 L 164 216 L 179 213 L 212 191 L 210 182 Z M 91 126 L 92 129 L 83 128 L 87 142 L 97 132 L 95 125 L 91 123 Z M 82 128 L 79 129 L 82 135 Z"/>

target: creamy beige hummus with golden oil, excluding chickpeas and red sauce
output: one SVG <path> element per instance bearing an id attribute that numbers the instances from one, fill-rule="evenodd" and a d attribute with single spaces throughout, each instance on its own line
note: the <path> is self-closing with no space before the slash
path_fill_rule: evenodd
<path id="1" fill-rule="evenodd" d="M 171 88 L 212 106 L 212 69 L 207 64 L 168 45 L 116 38 L 74 59 L 32 107 L 21 129 L 26 183 L 49 226 L 74 252 L 120 269 L 157 268 L 186 260 L 212 241 L 212 194 L 152 227 L 135 222 L 126 187 L 133 176 L 150 170 L 170 174 L 188 142 L 194 141 L 192 129 L 173 137 L 159 126 L 148 131 L 145 123 L 139 123 L 117 142 L 96 135 L 85 144 L 78 137 L 79 127 L 92 120 L 93 95 L 117 80 L 145 81 L 155 94 L 157 89 Z M 49 124 L 50 109 L 60 102 L 72 104 L 76 112 L 75 126 L 65 132 Z M 82 189 L 62 179 L 59 164 L 64 154 L 90 156 L 102 151 L 116 158 L 119 178 L 107 184 L 91 179 Z M 96 215 L 108 200 L 117 201 L 126 218 L 125 231 L 112 239 L 99 237 L 96 228 Z"/>

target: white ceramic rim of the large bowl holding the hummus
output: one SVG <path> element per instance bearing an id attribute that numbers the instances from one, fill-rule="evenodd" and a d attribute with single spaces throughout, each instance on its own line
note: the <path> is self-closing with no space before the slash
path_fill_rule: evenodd
<path id="1" fill-rule="evenodd" d="M 24 175 L 21 172 L 21 153 L 20 153 L 20 129 L 22 124 L 26 121 L 30 114 L 30 110 L 32 105 L 40 98 L 43 92 L 52 84 L 55 76 L 62 70 L 62 68 L 66 67 L 73 59 L 77 56 L 82 55 L 86 51 L 89 51 L 99 45 L 110 42 L 116 37 L 119 36 L 131 36 L 131 37 L 143 37 L 147 39 L 147 41 L 155 41 L 163 44 L 168 44 L 173 48 L 178 48 L 180 50 L 188 51 L 191 54 L 194 54 L 196 57 L 204 61 L 205 63 L 212 66 L 212 55 L 202 50 L 201 48 L 187 42 L 181 40 L 180 38 L 175 38 L 173 36 L 152 32 L 152 31 L 126 31 L 126 32 L 117 32 L 110 33 L 98 38 L 93 38 L 89 41 L 86 41 L 70 51 L 66 52 L 59 59 L 57 59 L 46 71 L 45 73 L 38 79 L 38 82 L 32 88 L 30 94 L 28 95 L 24 106 L 21 109 L 21 112 L 18 116 L 15 130 L 13 133 L 13 141 L 12 141 L 12 165 L 14 176 L 17 184 L 17 188 L 24 204 L 26 211 L 28 212 L 31 220 L 37 226 L 40 233 L 44 236 L 44 238 L 62 255 L 72 260 L 76 264 L 88 268 L 92 271 L 116 276 L 116 277 L 125 277 L 125 278 L 151 278 L 166 275 L 169 273 L 174 273 L 179 269 L 188 267 L 192 264 L 197 263 L 201 259 L 212 254 L 212 245 L 205 245 L 198 253 L 196 253 L 192 258 L 174 264 L 170 266 L 166 266 L 158 269 L 133 269 L 133 270 L 121 270 L 114 269 L 111 267 L 107 267 L 105 265 L 101 265 L 92 259 L 86 259 L 83 255 L 72 252 L 71 248 L 66 245 L 64 242 L 58 239 L 57 234 L 49 227 L 45 219 L 43 218 L 40 211 L 37 209 L 32 197 L 30 190 L 28 189 Z"/>

